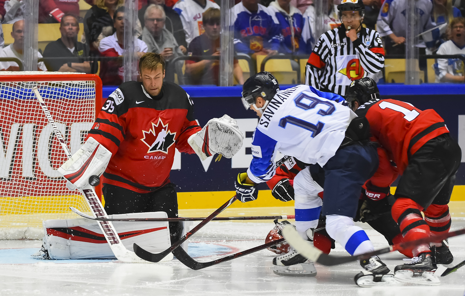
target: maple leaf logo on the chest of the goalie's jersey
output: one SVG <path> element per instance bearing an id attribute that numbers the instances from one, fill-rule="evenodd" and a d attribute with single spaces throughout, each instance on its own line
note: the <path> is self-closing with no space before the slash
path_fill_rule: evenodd
<path id="1" fill-rule="evenodd" d="M 152 122 L 152 129 L 142 130 L 142 135 L 144 137 L 140 141 L 147 145 L 147 153 L 163 152 L 168 154 L 168 148 L 174 144 L 176 132 L 172 133 L 168 129 L 168 123 L 163 124 L 159 118 L 157 124 Z"/>

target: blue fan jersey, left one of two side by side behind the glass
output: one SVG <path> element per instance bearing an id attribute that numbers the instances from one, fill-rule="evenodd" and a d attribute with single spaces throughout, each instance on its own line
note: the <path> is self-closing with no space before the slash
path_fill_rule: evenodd
<path id="1" fill-rule="evenodd" d="M 259 4 L 256 13 L 251 13 L 242 1 L 234 6 L 234 49 L 252 54 L 263 48 L 279 50 L 283 36 L 276 16 Z"/>

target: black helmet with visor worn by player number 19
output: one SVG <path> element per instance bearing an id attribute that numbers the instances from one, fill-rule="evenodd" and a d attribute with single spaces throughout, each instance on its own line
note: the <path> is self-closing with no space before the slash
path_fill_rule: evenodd
<path id="1" fill-rule="evenodd" d="M 246 109 L 255 104 L 257 97 L 262 97 L 266 102 L 271 99 L 279 91 L 279 84 L 276 77 L 270 72 L 259 72 L 252 77 L 249 77 L 242 86 L 242 103 Z M 268 105 L 265 104 L 264 108 Z"/>

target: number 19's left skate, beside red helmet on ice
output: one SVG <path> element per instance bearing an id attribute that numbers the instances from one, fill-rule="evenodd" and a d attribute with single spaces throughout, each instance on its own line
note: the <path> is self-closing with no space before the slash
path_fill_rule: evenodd
<path id="1" fill-rule="evenodd" d="M 289 252 L 273 258 L 273 272 L 279 276 L 314 277 L 317 270 L 313 262 L 290 247 Z"/>

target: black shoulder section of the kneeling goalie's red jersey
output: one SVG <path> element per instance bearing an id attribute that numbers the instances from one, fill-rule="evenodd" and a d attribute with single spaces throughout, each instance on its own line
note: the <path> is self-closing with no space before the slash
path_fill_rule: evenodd
<path id="1" fill-rule="evenodd" d="M 118 105 L 118 115 L 126 113 L 131 108 L 148 108 L 156 110 L 189 109 L 192 101 L 186 91 L 179 85 L 163 82 L 158 96 L 150 96 L 137 81 L 128 81 L 121 84 L 109 96 Z"/>

